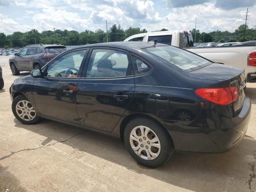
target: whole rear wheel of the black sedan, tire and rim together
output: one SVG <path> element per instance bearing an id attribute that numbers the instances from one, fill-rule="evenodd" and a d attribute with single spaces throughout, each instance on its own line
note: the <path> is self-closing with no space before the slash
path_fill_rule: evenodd
<path id="1" fill-rule="evenodd" d="M 143 137 L 143 134 L 140 132 L 140 128 L 143 128 L 144 132 L 149 130 L 148 134 Z M 132 139 L 130 139 L 130 135 L 132 135 Z M 153 139 L 154 142 L 150 142 Z M 158 141 L 155 142 L 156 140 Z M 162 126 L 159 126 L 156 122 L 148 118 L 135 118 L 128 122 L 124 130 L 124 143 L 130 155 L 139 164 L 146 167 L 160 166 L 170 159 L 174 153 L 174 144 L 169 133 L 162 128 Z M 154 146 L 152 146 L 153 144 Z M 140 156 L 137 155 L 137 153 L 139 153 Z"/>

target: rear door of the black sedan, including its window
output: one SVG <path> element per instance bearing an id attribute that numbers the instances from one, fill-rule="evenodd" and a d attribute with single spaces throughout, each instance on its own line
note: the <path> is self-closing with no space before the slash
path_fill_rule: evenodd
<path id="1" fill-rule="evenodd" d="M 111 132 L 134 93 L 129 53 L 106 48 L 95 48 L 90 52 L 87 71 L 78 82 L 78 116 L 83 126 Z"/>

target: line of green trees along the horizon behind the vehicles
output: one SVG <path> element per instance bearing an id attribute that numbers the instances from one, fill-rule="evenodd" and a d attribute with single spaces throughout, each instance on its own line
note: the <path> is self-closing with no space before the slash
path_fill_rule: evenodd
<path id="1" fill-rule="evenodd" d="M 214 31 L 210 33 L 202 32 L 193 29 L 190 30 L 193 38 L 195 38 L 196 32 L 196 42 L 236 42 L 236 41 L 246 41 L 253 40 L 255 37 L 255 29 L 249 29 L 246 26 L 246 36 L 244 35 L 244 26 L 241 25 L 235 32 L 228 31 Z M 168 29 L 162 28 L 159 31 L 166 31 Z M 24 47 L 28 44 L 54 44 L 60 43 L 63 45 L 84 45 L 84 44 L 94 44 L 101 42 L 114 42 L 123 41 L 124 39 L 132 36 L 134 34 L 146 33 L 146 29 L 140 29 L 139 27 L 130 27 L 124 30 L 120 24 L 113 24 L 108 33 L 101 29 L 91 31 L 85 30 L 84 32 L 77 32 L 76 30 L 55 30 L 55 31 L 42 31 L 38 32 L 36 29 L 32 29 L 28 32 L 14 32 L 13 34 L 6 35 L 0 33 L 0 47 Z M 108 35 L 107 35 L 108 34 Z"/>

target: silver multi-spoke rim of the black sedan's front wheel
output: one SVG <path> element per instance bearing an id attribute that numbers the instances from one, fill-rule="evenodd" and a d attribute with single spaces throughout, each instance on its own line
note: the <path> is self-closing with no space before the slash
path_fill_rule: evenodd
<path id="1" fill-rule="evenodd" d="M 21 100 L 16 104 L 16 113 L 24 121 L 36 118 L 36 111 L 29 101 Z"/>

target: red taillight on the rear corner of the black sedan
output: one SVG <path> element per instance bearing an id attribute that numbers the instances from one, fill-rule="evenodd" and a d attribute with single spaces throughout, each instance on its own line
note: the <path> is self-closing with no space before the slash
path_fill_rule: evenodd
<path id="1" fill-rule="evenodd" d="M 238 98 L 237 87 L 202 88 L 195 92 L 198 96 L 219 105 L 228 105 Z"/>

